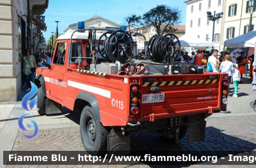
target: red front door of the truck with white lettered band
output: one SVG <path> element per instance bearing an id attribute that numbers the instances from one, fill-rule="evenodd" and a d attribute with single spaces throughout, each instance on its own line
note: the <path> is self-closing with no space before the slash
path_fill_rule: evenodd
<path id="1" fill-rule="evenodd" d="M 65 95 L 64 88 L 67 87 L 67 81 L 63 81 L 63 74 L 66 72 L 65 69 L 65 46 L 66 43 L 56 43 L 57 47 L 54 51 L 52 61 L 51 76 L 51 92 L 50 95 L 63 101 Z"/>

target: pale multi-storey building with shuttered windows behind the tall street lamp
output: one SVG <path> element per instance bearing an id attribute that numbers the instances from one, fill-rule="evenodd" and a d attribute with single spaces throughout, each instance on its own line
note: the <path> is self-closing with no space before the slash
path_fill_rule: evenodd
<path id="1" fill-rule="evenodd" d="M 186 33 L 197 34 L 198 38 L 212 41 L 213 22 L 207 18 L 207 11 L 223 12 L 223 17 L 216 20 L 214 27 L 215 48 L 223 51 L 224 41 L 236 38 L 248 32 L 250 24 L 250 11 L 255 8 L 255 0 L 189 0 L 186 10 Z M 251 30 L 256 29 L 256 13 L 252 14 Z"/>

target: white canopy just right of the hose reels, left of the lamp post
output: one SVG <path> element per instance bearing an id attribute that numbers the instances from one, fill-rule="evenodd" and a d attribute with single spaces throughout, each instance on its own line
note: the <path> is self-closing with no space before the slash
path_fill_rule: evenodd
<path id="1" fill-rule="evenodd" d="M 179 38 L 180 46 L 215 46 L 214 42 L 204 41 L 193 34 L 184 34 Z"/>

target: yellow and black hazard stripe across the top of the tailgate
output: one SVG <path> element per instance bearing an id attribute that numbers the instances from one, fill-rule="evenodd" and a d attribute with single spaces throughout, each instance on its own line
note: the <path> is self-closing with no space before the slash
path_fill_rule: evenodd
<path id="1" fill-rule="evenodd" d="M 196 85 L 196 84 L 208 84 L 218 83 L 219 80 L 189 80 L 189 81 L 153 81 L 143 82 L 142 87 L 156 87 L 156 86 L 174 86 L 174 85 Z"/>

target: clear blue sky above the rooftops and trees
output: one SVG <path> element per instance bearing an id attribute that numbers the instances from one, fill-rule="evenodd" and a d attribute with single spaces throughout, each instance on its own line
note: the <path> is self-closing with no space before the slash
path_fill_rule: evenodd
<path id="1" fill-rule="evenodd" d="M 160 3 L 161 2 L 161 3 Z M 98 1 L 82 1 L 82 0 L 49 0 L 49 6 L 43 14 L 45 16 L 45 24 L 47 31 L 43 32 L 44 38 L 49 40 L 51 32 L 56 32 L 56 22 L 58 23 L 58 32 L 63 31 L 70 24 L 92 18 L 94 15 L 104 17 L 116 24 L 122 24 L 124 17 L 129 14 L 143 15 L 157 4 L 166 4 L 167 6 L 179 7 L 181 10 L 180 25 L 186 23 L 186 4 L 182 0 L 98 0 Z"/>

